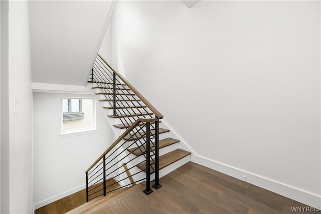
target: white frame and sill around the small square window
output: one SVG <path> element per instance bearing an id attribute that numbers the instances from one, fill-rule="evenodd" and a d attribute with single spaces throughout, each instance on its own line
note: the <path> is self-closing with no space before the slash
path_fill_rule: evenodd
<path id="1" fill-rule="evenodd" d="M 63 117 L 63 99 L 90 99 L 92 100 L 92 123 L 93 126 L 90 128 L 81 128 L 81 129 L 73 129 L 73 130 L 63 130 L 64 127 L 64 117 Z M 94 97 L 61 97 L 60 99 L 60 118 L 61 118 L 61 133 L 60 136 L 62 137 L 68 137 L 68 136 L 76 136 L 80 134 L 88 134 L 88 133 L 94 133 L 96 132 L 96 100 Z"/>

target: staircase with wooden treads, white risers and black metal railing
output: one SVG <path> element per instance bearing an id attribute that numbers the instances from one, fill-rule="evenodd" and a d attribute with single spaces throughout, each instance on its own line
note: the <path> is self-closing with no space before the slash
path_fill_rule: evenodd
<path id="1" fill-rule="evenodd" d="M 88 83 L 119 137 L 85 172 L 87 202 L 107 195 L 115 185 L 106 185 L 111 178 L 120 184 L 117 189 L 145 181 L 148 195 L 150 183 L 162 187 L 159 177 L 190 161 L 191 152 L 180 148 L 180 140 L 162 123 L 163 115 L 99 54 Z"/>

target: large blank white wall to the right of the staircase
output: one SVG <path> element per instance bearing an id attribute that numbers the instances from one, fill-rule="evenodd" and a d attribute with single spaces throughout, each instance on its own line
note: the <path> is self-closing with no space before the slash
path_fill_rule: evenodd
<path id="1" fill-rule="evenodd" d="M 119 1 L 112 47 L 199 156 L 321 206 L 319 1 Z"/>

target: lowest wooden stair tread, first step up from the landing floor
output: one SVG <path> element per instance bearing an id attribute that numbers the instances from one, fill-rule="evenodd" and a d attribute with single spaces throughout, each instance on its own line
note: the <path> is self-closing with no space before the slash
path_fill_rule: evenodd
<path id="1" fill-rule="evenodd" d="M 166 153 L 162 156 L 159 156 L 159 170 L 162 168 L 165 168 L 166 166 L 175 163 L 176 161 L 182 159 L 183 157 L 186 157 L 188 155 L 190 155 L 191 152 L 183 150 L 183 149 L 176 149 L 174 151 L 171 151 L 169 153 Z M 143 171 L 146 171 L 146 162 L 143 162 L 139 165 L 137 165 L 137 167 Z M 150 173 L 152 173 L 153 170 L 150 167 Z"/>

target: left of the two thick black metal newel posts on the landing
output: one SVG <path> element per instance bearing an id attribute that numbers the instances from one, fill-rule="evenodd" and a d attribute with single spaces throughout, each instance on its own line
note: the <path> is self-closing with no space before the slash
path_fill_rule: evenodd
<path id="1" fill-rule="evenodd" d="M 150 122 L 146 123 L 146 189 L 143 192 L 146 195 L 153 192 L 150 188 Z"/>

